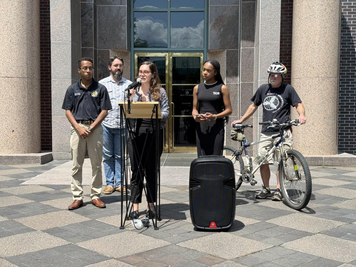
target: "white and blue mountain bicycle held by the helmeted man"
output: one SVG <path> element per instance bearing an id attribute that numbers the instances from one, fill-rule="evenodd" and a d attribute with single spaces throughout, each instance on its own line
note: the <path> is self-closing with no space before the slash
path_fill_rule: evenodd
<path id="1" fill-rule="evenodd" d="M 235 124 L 236 130 L 231 131 L 231 139 L 240 141 L 240 148 L 236 149 L 230 146 L 224 146 L 223 155 L 231 159 L 235 166 L 235 177 L 239 177 L 236 183 L 236 191 L 240 188 L 242 182 L 255 185 L 257 181 L 253 179 L 254 173 L 261 167 L 265 159 L 279 148 L 281 151 L 281 158 L 279 163 L 279 183 L 281 191 L 287 205 L 295 210 L 301 210 L 308 205 L 310 196 L 312 194 L 312 177 L 307 161 L 304 156 L 297 150 L 284 148 L 284 130 L 290 126 L 299 126 L 297 120 L 290 120 L 286 123 L 280 123 L 276 119 L 272 121 L 260 122 L 260 125 L 269 125 L 269 127 L 278 127 L 279 134 L 273 135 L 264 140 L 258 140 L 252 143 L 247 143 L 245 137 L 245 128 L 252 128 L 250 124 Z M 247 154 L 247 147 L 256 145 L 257 143 L 272 140 L 281 137 L 281 139 L 267 152 L 265 156 L 258 161 L 257 166 L 253 169 L 252 158 Z M 245 152 L 246 166 L 242 159 L 242 153 Z M 281 164 L 282 163 L 282 164 Z M 282 175 L 281 175 L 282 174 Z"/>

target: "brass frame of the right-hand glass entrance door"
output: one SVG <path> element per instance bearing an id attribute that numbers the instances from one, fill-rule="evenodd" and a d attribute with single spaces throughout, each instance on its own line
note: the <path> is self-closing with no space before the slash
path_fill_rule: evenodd
<path id="1" fill-rule="evenodd" d="M 170 127 L 169 131 L 169 152 L 177 152 L 177 153 L 196 153 L 197 152 L 197 146 L 176 146 L 174 147 L 174 104 L 172 106 L 172 98 L 173 98 L 173 85 L 196 85 L 196 84 L 172 84 L 173 82 L 173 60 L 172 57 L 200 57 L 200 69 L 203 69 L 203 60 L 204 60 L 204 53 L 169 53 L 169 110 L 172 112 L 169 112 L 169 125 L 172 126 L 172 129 Z M 200 82 L 203 82 L 203 74 L 200 72 Z M 192 98 L 193 102 L 193 98 Z M 189 116 L 179 116 L 179 117 L 190 117 Z"/>

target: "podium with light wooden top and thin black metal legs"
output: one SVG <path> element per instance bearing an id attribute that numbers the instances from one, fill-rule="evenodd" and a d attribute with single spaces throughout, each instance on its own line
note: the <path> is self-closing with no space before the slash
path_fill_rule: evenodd
<path id="1" fill-rule="evenodd" d="M 118 102 L 117 104 L 120 106 L 121 132 L 124 131 L 124 129 L 122 127 L 124 119 L 125 120 L 126 119 L 151 119 L 150 126 L 153 126 L 152 122 L 153 122 L 153 119 L 155 119 L 155 129 L 152 129 L 152 130 L 153 130 L 155 138 L 156 138 L 156 144 L 159 144 L 159 140 L 160 140 L 159 133 L 160 133 L 160 125 L 161 125 L 160 120 L 162 119 L 161 109 L 159 108 L 159 102 L 151 101 L 151 102 L 130 102 L 130 103 L 128 103 L 126 101 L 122 101 L 122 102 Z M 126 183 L 126 188 L 127 188 L 126 166 L 127 167 L 129 166 L 129 164 L 128 164 L 129 163 L 128 162 L 129 155 L 128 155 L 128 150 L 127 150 L 127 141 L 128 141 L 128 138 L 131 138 L 131 136 L 132 136 L 131 135 L 131 133 L 132 133 L 131 125 L 129 124 L 128 121 L 125 121 L 125 124 L 126 124 L 126 129 L 127 129 L 126 133 L 127 134 L 122 135 L 121 137 L 122 137 L 122 142 L 123 142 L 122 144 L 124 144 L 125 148 L 126 148 L 126 165 L 125 165 L 125 159 L 121 157 L 121 188 L 123 188 L 122 187 L 123 181 L 124 181 L 123 178 L 125 178 L 125 183 Z M 145 140 L 145 144 L 143 145 L 141 155 L 135 155 L 135 153 L 134 153 L 134 156 L 140 157 L 138 159 L 138 162 L 139 162 L 138 169 L 139 170 L 137 172 L 136 177 L 134 177 L 134 179 L 141 179 L 141 182 L 143 185 L 144 185 L 143 178 L 146 179 L 146 174 L 145 174 L 145 171 L 142 166 L 142 157 L 143 157 L 143 151 L 144 151 L 144 148 L 146 145 L 146 141 L 147 140 Z M 135 144 L 133 142 L 131 142 L 131 143 L 134 148 L 134 151 L 137 151 L 137 147 L 135 146 Z M 160 155 L 159 154 L 160 153 L 158 153 L 158 149 L 156 148 L 156 157 L 155 157 L 155 159 L 156 159 L 156 161 L 155 161 L 156 162 L 155 163 L 155 166 L 156 166 L 156 194 L 158 192 L 158 198 L 157 198 L 156 205 L 155 205 L 155 213 L 156 213 L 155 220 L 153 220 L 153 218 L 152 218 L 152 224 L 153 224 L 155 230 L 158 230 L 157 217 L 158 217 L 158 220 L 161 220 L 161 190 L 160 190 L 161 177 L 160 177 L 160 158 L 159 158 Z M 142 175 L 140 175 L 140 173 Z M 149 188 L 147 188 L 148 192 L 146 192 L 146 189 L 144 186 L 143 186 L 143 190 L 145 192 L 145 197 L 147 198 L 147 194 L 151 194 L 151 192 L 149 192 L 150 191 Z M 132 194 L 132 192 L 133 192 L 133 188 L 131 188 L 131 194 Z M 135 190 L 135 193 L 137 193 L 137 190 Z M 131 198 L 130 198 L 129 203 L 127 203 L 127 191 L 126 191 L 126 215 L 123 220 L 123 200 L 124 200 L 124 192 L 121 190 L 121 225 L 120 225 L 120 229 L 125 228 L 125 222 L 126 222 L 126 220 L 129 219 L 129 214 L 133 207 Z M 158 209 L 157 209 L 157 203 L 158 203 Z M 147 205 L 150 206 L 148 203 L 147 203 Z"/>

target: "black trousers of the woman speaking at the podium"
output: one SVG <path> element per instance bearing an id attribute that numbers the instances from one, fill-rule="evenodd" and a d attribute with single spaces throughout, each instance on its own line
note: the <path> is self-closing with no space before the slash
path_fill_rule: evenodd
<path id="1" fill-rule="evenodd" d="M 148 136 L 147 136 L 148 135 Z M 143 147 L 145 143 L 145 138 L 147 136 L 146 146 Z M 133 143 L 136 145 L 133 147 Z M 148 129 L 141 129 L 135 133 L 130 133 L 129 141 L 127 145 L 129 151 L 129 157 L 131 162 L 131 201 L 132 203 L 138 204 L 142 202 L 142 190 L 143 184 L 141 177 L 143 178 L 142 169 L 139 168 L 139 160 L 143 151 L 142 156 L 142 167 L 143 172 L 146 174 L 146 192 L 147 201 L 149 203 L 154 203 L 157 201 L 156 192 L 156 150 L 158 149 L 158 155 L 161 157 L 163 151 L 163 129 L 160 131 L 159 144 L 156 143 L 156 135 Z M 158 164 L 160 164 L 158 158 Z M 151 195 L 152 198 L 151 198 Z"/>

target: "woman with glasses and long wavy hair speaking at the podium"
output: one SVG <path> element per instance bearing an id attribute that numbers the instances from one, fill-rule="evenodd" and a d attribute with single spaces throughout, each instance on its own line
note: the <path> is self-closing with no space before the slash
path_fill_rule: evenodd
<path id="1" fill-rule="evenodd" d="M 154 133 L 156 127 L 156 120 L 153 119 L 128 119 L 131 126 L 132 132 L 130 133 L 128 141 L 128 151 L 131 162 L 131 201 L 133 203 L 133 211 L 130 213 L 130 220 L 138 218 L 138 204 L 142 200 L 142 189 L 143 184 L 140 178 L 140 172 L 138 169 L 138 160 L 142 157 L 142 167 L 146 174 L 146 189 L 147 189 L 147 202 L 150 208 L 147 206 L 147 218 L 154 218 L 155 211 L 153 208 L 153 203 L 156 202 L 157 192 L 156 192 L 156 149 L 158 149 L 159 156 L 162 155 L 163 151 L 163 129 L 166 127 L 166 120 L 169 115 L 169 106 L 166 90 L 161 88 L 161 83 L 158 77 L 157 67 L 152 62 L 142 62 L 138 67 L 137 78 L 141 78 L 141 84 L 137 90 L 131 90 L 131 100 L 132 101 L 158 101 L 159 108 L 161 109 L 162 120 L 160 123 L 160 140 L 159 144 L 156 143 L 156 136 Z M 155 116 L 155 115 L 153 115 Z M 143 147 L 145 143 L 146 136 L 147 142 L 146 146 Z M 133 146 L 133 144 L 135 146 Z M 137 148 L 137 151 L 135 150 Z M 136 179 L 137 177 L 137 179 Z M 143 178 L 143 177 L 142 177 Z M 152 198 L 151 198 L 151 195 Z"/>

